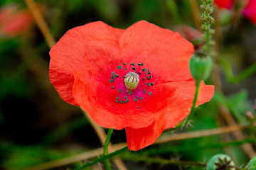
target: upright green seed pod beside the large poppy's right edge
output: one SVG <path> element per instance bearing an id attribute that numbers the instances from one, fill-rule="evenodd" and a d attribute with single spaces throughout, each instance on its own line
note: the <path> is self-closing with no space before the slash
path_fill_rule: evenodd
<path id="1" fill-rule="evenodd" d="M 205 81 L 213 67 L 213 60 L 203 50 L 197 50 L 191 57 L 189 69 L 193 79 L 197 82 Z"/>

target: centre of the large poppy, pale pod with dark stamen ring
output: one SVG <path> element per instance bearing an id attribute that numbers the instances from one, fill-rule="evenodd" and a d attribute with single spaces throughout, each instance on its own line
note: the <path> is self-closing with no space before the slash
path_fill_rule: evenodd
<path id="1" fill-rule="evenodd" d="M 126 63 L 117 66 L 117 73 L 112 72 L 109 82 L 113 90 L 119 91 L 115 103 L 128 103 L 129 101 L 137 102 L 137 108 L 141 108 L 139 103 L 152 95 L 149 91 L 154 86 L 151 80 L 151 72 L 144 68 L 143 63 L 135 65 Z M 119 76 L 121 75 L 121 76 Z"/>

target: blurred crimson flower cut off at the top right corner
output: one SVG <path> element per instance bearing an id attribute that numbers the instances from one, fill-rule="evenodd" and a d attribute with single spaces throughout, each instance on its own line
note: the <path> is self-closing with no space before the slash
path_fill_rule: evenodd
<path id="1" fill-rule="evenodd" d="M 256 1 L 249 0 L 247 6 L 242 11 L 242 15 L 256 25 Z"/>

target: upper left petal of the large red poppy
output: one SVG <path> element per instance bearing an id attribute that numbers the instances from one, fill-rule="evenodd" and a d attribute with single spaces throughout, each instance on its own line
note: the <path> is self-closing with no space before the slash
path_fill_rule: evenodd
<path id="1" fill-rule="evenodd" d="M 119 58 L 119 37 L 124 30 L 100 21 L 68 30 L 50 50 L 51 83 L 64 101 L 78 106 L 73 98 L 73 69 L 97 74 L 114 57 Z"/>

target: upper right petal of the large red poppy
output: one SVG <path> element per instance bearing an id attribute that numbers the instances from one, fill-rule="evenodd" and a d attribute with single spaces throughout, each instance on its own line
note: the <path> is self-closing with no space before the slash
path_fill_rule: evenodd
<path id="1" fill-rule="evenodd" d="M 139 21 L 125 30 L 119 44 L 122 57 L 148 64 L 159 82 L 191 79 L 188 61 L 193 45 L 180 33 Z"/>

